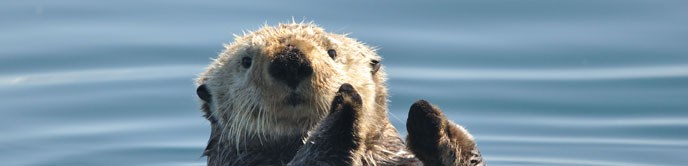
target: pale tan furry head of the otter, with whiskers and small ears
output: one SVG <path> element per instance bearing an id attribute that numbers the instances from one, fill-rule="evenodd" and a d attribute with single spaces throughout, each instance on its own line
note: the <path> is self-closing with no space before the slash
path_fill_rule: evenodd
<path id="1" fill-rule="evenodd" d="M 344 83 L 358 90 L 366 112 L 386 118 L 381 58 L 345 35 L 314 24 L 280 24 L 225 47 L 197 79 L 212 126 L 209 148 L 303 137 L 327 115 Z"/>

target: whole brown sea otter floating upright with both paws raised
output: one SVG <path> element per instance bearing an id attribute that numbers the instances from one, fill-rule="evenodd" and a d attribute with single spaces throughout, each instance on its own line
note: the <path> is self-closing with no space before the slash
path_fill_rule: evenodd
<path id="1" fill-rule="evenodd" d="M 404 141 L 381 57 L 346 35 L 287 23 L 225 48 L 196 81 L 208 165 L 484 165 L 473 137 L 424 100 Z"/>

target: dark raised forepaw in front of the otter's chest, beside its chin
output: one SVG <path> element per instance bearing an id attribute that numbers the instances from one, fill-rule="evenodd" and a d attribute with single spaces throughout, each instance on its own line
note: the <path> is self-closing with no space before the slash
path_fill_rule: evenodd
<path id="1" fill-rule="evenodd" d="M 352 165 L 361 137 L 356 129 L 363 102 L 350 84 L 344 84 L 332 100 L 330 113 L 310 134 L 289 165 Z M 314 163 L 317 162 L 317 163 Z"/>

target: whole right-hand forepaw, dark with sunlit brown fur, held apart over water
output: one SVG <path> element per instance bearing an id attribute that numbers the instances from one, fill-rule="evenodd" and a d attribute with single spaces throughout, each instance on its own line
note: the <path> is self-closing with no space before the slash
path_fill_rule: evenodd
<path id="1" fill-rule="evenodd" d="M 409 110 L 408 148 L 424 165 L 485 165 L 473 136 L 425 100 Z"/>

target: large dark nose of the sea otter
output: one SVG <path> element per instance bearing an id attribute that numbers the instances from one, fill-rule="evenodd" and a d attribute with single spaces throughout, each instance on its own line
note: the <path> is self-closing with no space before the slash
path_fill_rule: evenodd
<path id="1" fill-rule="evenodd" d="M 270 62 L 270 75 L 292 89 L 296 89 L 301 81 L 313 74 L 310 61 L 294 46 L 287 46 L 277 53 Z"/>

